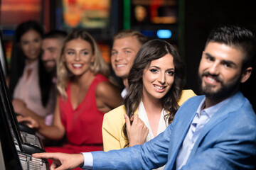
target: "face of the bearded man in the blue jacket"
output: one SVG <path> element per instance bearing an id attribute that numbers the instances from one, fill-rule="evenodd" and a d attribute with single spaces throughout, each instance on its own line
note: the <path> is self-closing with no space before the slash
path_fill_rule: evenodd
<path id="1" fill-rule="evenodd" d="M 230 56 L 233 56 L 230 60 Z M 209 42 L 203 52 L 199 75 L 201 89 L 206 96 L 215 100 L 227 98 L 238 91 L 242 78 L 242 52 L 218 42 Z M 247 68 L 245 73 L 251 72 Z"/>

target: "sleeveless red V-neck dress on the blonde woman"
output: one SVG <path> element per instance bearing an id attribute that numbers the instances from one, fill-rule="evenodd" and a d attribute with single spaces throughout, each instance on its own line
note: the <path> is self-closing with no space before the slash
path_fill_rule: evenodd
<path id="1" fill-rule="evenodd" d="M 73 110 L 70 102 L 70 87 L 68 84 L 68 100 L 60 100 L 60 118 L 65 127 L 67 142 L 62 147 L 46 147 L 46 152 L 64 152 L 79 154 L 102 150 L 102 121 L 103 115 L 97 109 L 95 91 L 97 84 L 108 79 L 97 74 L 90 84 L 82 103 Z"/>

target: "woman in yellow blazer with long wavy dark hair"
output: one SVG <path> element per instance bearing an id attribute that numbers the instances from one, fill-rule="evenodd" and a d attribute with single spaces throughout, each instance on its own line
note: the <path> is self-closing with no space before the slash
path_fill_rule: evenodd
<path id="1" fill-rule="evenodd" d="M 196 96 L 192 90 L 182 90 L 184 77 L 184 64 L 172 45 L 162 40 L 146 42 L 129 72 L 124 105 L 104 116 L 104 151 L 141 145 L 163 132 L 178 107 Z M 139 118 L 133 116 L 136 114 Z M 129 119 L 136 125 L 131 126 Z"/>

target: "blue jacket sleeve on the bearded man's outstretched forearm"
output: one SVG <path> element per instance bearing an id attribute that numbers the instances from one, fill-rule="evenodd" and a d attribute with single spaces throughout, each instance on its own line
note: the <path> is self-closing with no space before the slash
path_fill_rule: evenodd
<path id="1" fill-rule="evenodd" d="M 93 169 L 155 169 L 167 162 L 171 125 L 153 140 L 120 150 L 92 152 Z"/>

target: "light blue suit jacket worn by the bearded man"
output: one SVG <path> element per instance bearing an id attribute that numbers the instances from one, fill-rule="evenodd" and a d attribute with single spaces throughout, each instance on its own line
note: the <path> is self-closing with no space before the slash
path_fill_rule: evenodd
<path id="1" fill-rule="evenodd" d="M 176 169 L 178 150 L 204 96 L 188 99 L 173 123 L 153 140 L 135 147 L 92 152 L 93 169 Z M 256 115 L 238 92 L 205 125 L 182 169 L 254 169 Z"/>

